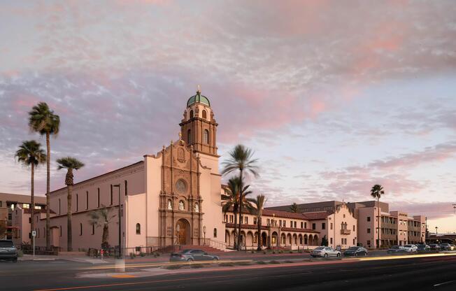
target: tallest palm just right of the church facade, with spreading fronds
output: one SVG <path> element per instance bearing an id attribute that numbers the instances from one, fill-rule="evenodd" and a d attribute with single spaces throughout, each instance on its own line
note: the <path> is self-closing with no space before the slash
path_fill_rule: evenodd
<path id="1" fill-rule="evenodd" d="M 239 180 L 241 180 L 241 192 L 240 196 L 243 197 L 243 173 L 246 171 L 247 173 L 252 174 L 253 176 L 257 177 L 258 172 L 257 172 L 257 159 L 253 159 L 253 151 L 250 148 L 247 148 L 243 145 L 237 145 L 234 147 L 233 150 L 229 152 L 229 159 L 227 159 L 224 164 L 224 169 L 222 171 L 222 174 L 225 175 L 227 173 L 232 173 L 234 171 L 239 171 Z M 242 222 L 242 199 L 238 201 L 239 204 L 239 227 L 238 227 L 238 234 L 241 234 L 241 222 Z M 241 243 L 241 236 L 238 235 L 238 243 L 237 247 L 239 248 L 239 245 Z"/>

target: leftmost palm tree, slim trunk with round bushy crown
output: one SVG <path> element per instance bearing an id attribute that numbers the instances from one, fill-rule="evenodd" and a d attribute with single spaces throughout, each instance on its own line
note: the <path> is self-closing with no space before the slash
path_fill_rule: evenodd
<path id="1" fill-rule="evenodd" d="M 30 231 L 35 229 L 34 211 L 35 211 L 35 166 L 44 164 L 46 154 L 41 148 L 41 143 L 36 141 L 22 141 L 19 150 L 16 151 L 15 158 L 17 162 L 22 163 L 24 166 L 31 168 L 31 181 L 30 181 Z"/>

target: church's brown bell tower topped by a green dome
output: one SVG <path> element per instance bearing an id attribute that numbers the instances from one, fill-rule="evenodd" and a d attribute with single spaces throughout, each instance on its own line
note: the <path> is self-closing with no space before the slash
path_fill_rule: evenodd
<path id="1" fill-rule="evenodd" d="M 193 146 L 194 152 L 218 157 L 217 126 L 211 102 L 201 95 L 198 86 L 197 94 L 188 99 L 184 118 L 180 122 L 182 139 L 187 146 Z"/>

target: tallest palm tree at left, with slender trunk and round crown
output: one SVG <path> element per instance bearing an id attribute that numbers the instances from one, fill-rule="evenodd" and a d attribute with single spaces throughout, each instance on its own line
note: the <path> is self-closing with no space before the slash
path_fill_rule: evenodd
<path id="1" fill-rule="evenodd" d="M 29 112 L 29 127 L 32 131 L 46 136 L 46 248 L 50 248 L 50 135 L 59 133 L 60 118 L 50 110 L 48 104 L 40 102 Z"/>

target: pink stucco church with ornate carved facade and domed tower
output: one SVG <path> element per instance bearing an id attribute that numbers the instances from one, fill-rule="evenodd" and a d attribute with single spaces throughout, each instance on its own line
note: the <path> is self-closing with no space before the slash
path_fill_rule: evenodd
<path id="1" fill-rule="evenodd" d="M 112 218 L 109 244 L 117 246 L 119 205 L 123 248 L 225 248 L 217 126 L 209 99 L 198 90 L 187 101 L 177 141 L 134 164 L 73 185 L 73 250 L 100 248 L 103 229 L 90 225 L 88 214 L 103 206 Z M 66 250 L 66 187 L 50 193 L 50 209 L 50 244 Z M 36 246 L 45 246 L 45 213 L 33 219 Z"/>

